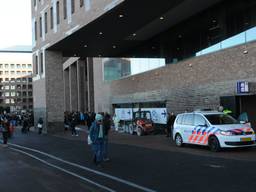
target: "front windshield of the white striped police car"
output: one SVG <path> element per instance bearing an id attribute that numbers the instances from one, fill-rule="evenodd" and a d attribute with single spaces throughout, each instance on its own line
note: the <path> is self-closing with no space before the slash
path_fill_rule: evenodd
<path id="1" fill-rule="evenodd" d="M 205 117 L 212 125 L 239 124 L 233 117 L 225 114 L 209 114 Z"/>

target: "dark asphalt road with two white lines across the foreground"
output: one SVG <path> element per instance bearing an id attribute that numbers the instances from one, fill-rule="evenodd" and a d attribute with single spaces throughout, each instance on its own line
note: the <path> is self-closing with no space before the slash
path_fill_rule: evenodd
<path id="1" fill-rule="evenodd" d="M 114 133 L 111 161 L 96 167 L 83 138 L 16 134 L 16 145 L 0 147 L 0 191 L 256 191 L 255 148 L 212 153 L 162 135 Z"/>

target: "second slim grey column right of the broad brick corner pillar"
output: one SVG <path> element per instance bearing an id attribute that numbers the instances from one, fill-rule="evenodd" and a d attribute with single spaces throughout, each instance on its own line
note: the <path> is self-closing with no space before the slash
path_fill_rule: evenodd
<path id="1" fill-rule="evenodd" d="M 78 111 L 77 62 L 69 67 L 70 110 Z"/>

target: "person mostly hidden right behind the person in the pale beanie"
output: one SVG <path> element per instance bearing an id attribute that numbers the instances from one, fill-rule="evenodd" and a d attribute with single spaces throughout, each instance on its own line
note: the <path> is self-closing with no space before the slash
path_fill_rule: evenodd
<path id="1" fill-rule="evenodd" d="M 108 157 L 108 133 L 111 128 L 111 116 L 108 113 L 105 113 L 103 118 L 103 161 L 109 161 Z"/>

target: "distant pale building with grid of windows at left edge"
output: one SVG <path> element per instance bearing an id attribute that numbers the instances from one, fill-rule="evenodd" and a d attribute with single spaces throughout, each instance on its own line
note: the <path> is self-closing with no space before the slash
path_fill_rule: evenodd
<path id="1" fill-rule="evenodd" d="M 11 112 L 33 110 L 32 53 L 0 53 L 0 107 Z"/>

